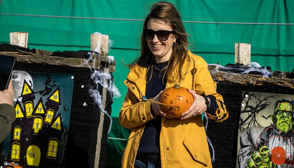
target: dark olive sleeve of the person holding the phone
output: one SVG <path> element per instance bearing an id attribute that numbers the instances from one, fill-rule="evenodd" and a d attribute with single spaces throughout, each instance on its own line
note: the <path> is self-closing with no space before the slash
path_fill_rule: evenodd
<path id="1" fill-rule="evenodd" d="M 8 104 L 0 105 L 0 143 L 11 130 L 11 124 L 15 120 L 15 109 Z"/>

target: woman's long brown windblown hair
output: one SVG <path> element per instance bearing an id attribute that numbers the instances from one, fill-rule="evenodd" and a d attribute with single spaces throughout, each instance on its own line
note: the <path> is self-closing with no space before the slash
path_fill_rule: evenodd
<path id="1" fill-rule="evenodd" d="M 157 21 L 164 22 L 168 24 L 173 31 L 175 31 L 175 35 L 177 37 L 175 46 L 172 47 L 172 55 L 169 58 L 169 63 L 165 68 L 162 69 L 162 72 L 164 72 L 164 77 L 169 80 L 170 82 L 180 82 L 182 79 L 182 67 L 184 64 L 185 59 L 187 58 L 187 47 L 188 47 L 188 40 L 186 34 L 185 27 L 182 24 L 181 17 L 179 15 L 179 12 L 176 10 L 175 6 L 166 1 L 160 1 L 155 4 L 153 4 L 150 8 L 150 13 L 145 18 L 143 29 L 147 29 L 147 23 L 148 21 L 153 18 Z M 127 65 L 129 68 L 132 68 L 134 66 L 137 66 L 139 63 L 141 63 L 143 60 L 146 59 L 146 57 L 152 57 L 153 59 L 149 59 L 149 64 L 147 66 L 147 71 L 151 70 L 151 75 L 149 79 L 147 80 L 147 83 L 150 82 L 153 74 L 153 68 L 155 64 L 155 56 L 152 54 L 147 39 L 145 38 L 144 34 L 141 35 L 141 56 L 134 60 L 134 62 Z M 178 64 L 178 66 L 177 66 Z M 178 74 L 176 74 L 177 79 L 172 79 L 172 73 L 175 73 L 175 68 L 178 68 Z M 162 82 L 164 79 L 162 80 Z"/>

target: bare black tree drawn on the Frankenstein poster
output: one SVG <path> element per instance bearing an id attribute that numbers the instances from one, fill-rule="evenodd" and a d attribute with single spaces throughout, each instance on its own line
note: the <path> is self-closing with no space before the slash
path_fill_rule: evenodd
<path id="1" fill-rule="evenodd" d="M 240 118 L 239 131 L 241 133 L 249 127 L 261 127 L 258 122 L 257 115 L 260 111 L 265 110 L 266 107 L 272 103 L 270 100 L 276 97 L 276 95 L 265 97 L 262 94 L 264 95 L 264 93 L 260 92 L 252 92 L 252 94 L 245 92 L 242 95 L 242 102 L 245 101 L 245 103 L 243 103 L 245 106 L 244 110 L 241 110 L 241 114 L 247 113 L 248 116 L 245 119 Z M 245 95 L 248 96 L 246 97 Z M 251 105 L 249 105 L 249 103 Z"/>

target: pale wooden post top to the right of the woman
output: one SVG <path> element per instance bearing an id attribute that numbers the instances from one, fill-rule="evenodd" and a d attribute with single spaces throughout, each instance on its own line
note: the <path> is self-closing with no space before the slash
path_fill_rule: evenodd
<path id="1" fill-rule="evenodd" d="M 240 63 L 251 66 L 250 50 L 251 44 L 235 43 L 235 64 Z"/>

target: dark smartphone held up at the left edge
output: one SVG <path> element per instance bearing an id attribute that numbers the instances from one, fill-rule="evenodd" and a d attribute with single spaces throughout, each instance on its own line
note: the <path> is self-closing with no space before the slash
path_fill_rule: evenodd
<path id="1" fill-rule="evenodd" d="M 12 69 L 16 62 L 15 57 L 0 55 L 0 90 L 7 89 Z"/>

